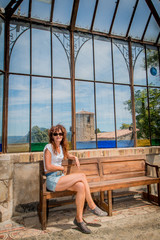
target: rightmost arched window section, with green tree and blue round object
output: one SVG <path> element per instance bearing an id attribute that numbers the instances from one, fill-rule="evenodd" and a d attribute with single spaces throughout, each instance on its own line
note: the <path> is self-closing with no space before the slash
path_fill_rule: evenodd
<path id="1" fill-rule="evenodd" d="M 138 44 L 133 44 L 132 55 L 137 145 L 159 145 L 160 75 L 158 49 L 149 46 L 145 49 Z"/>

